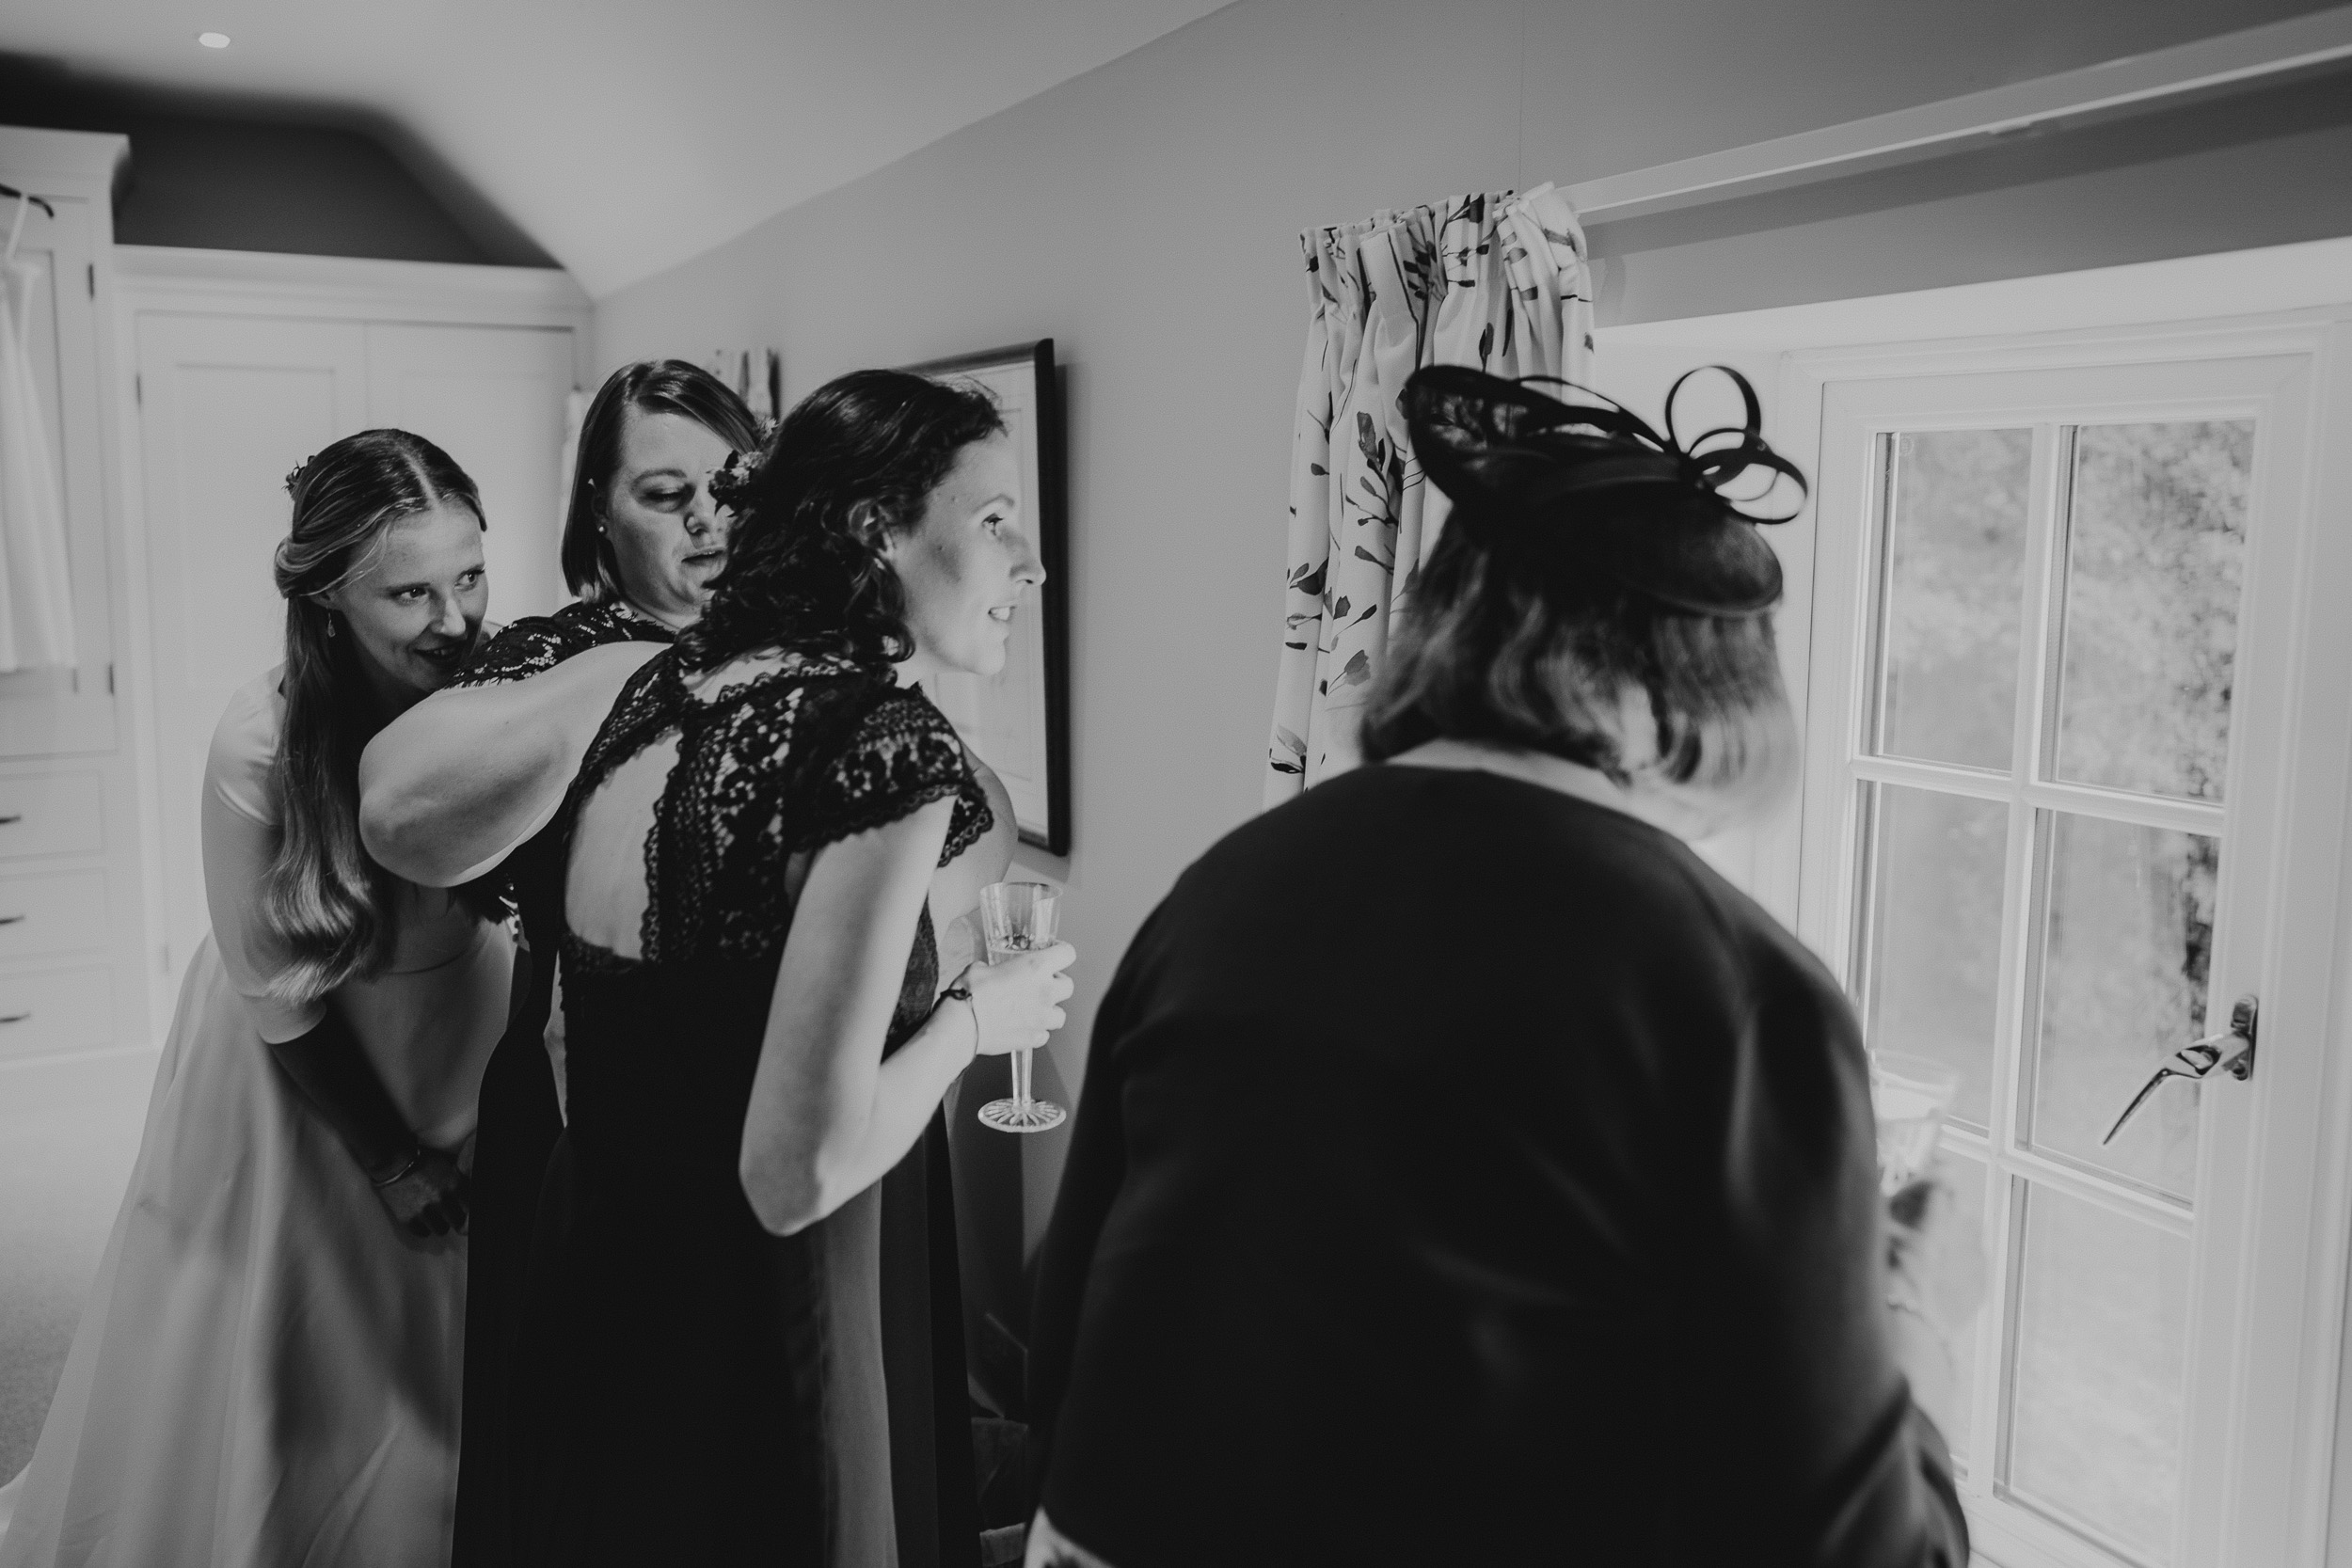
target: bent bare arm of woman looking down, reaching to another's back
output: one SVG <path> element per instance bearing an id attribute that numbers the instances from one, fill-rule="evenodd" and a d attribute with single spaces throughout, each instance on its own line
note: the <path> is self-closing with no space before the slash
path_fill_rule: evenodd
<path id="1" fill-rule="evenodd" d="M 360 757 L 360 842 L 386 870 L 454 886 L 503 860 L 562 804 L 621 686 L 659 642 L 588 649 L 503 686 L 435 691 Z"/>

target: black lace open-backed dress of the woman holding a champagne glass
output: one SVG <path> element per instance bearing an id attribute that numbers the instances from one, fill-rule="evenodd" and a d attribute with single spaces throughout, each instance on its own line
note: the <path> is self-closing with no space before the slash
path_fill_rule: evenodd
<path id="1" fill-rule="evenodd" d="M 946 863 L 988 802 L 953 726 L 887 670 L 793 658 L 706 701 L 661 656 L 562 820 L 670 733 L 642 957 L 562 938 L 572 1208 L 543 1244 L 567 1366 L 562 1420 L 532 1422 L 534 1556 L 974 1563 L 943 1121 L 793 1237 L 753 1215 L 739 1152 L 809 856 L 953 797 Z M 924 912 L 882 1056 L 929 1013 L 936 966 Z"/>

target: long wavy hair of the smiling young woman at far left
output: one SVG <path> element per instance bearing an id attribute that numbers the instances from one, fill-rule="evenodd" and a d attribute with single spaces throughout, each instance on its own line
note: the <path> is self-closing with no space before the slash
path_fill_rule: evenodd
<path id="1" fill-rule="evenodd" d="M 407 430 L 362 430 L 287 477 L 294 522 L 278 545 L 287 602 L 287 701 L 278 736 L 278 853 L 261 877 L 261 926 L 292 961 L 270 983 L 315 1001 L 390 957 L 393 877 L 360 844 L 360 752 L 383 729 L 355 639 L 329 628 L 320 599 L 367 571 L 393 524 L 456 501 L 482 520 L 482 496 L 447 451 Z M 485 524 L 487 527 L 487 524 Z"/>

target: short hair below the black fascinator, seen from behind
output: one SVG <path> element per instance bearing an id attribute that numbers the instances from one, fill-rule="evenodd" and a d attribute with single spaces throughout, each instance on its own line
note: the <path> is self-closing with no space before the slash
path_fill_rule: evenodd
<path id="1" fill-rule="evenodd" d="M 1367 762 L 1491 741 L 1630 780 L 1621 703 L 1639 689 L 1672 783 L 1736 785 L 1785 724 L 1769 616 L 1705 616 L 1595 581 L 1531 574 L 1449 527 L 1421 569 L 1357 729 Z"/>

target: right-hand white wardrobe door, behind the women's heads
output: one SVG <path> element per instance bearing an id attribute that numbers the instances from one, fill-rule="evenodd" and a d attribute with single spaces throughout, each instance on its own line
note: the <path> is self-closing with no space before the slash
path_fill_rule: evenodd
<path id="1" fill-rule="evenodd" d="M 564 329 L 367 329 L 367 418 L 414 430 L 482 487 L 492 621 L 546 616 L 572 597 L 555 562 L 569 390 Z"/>

